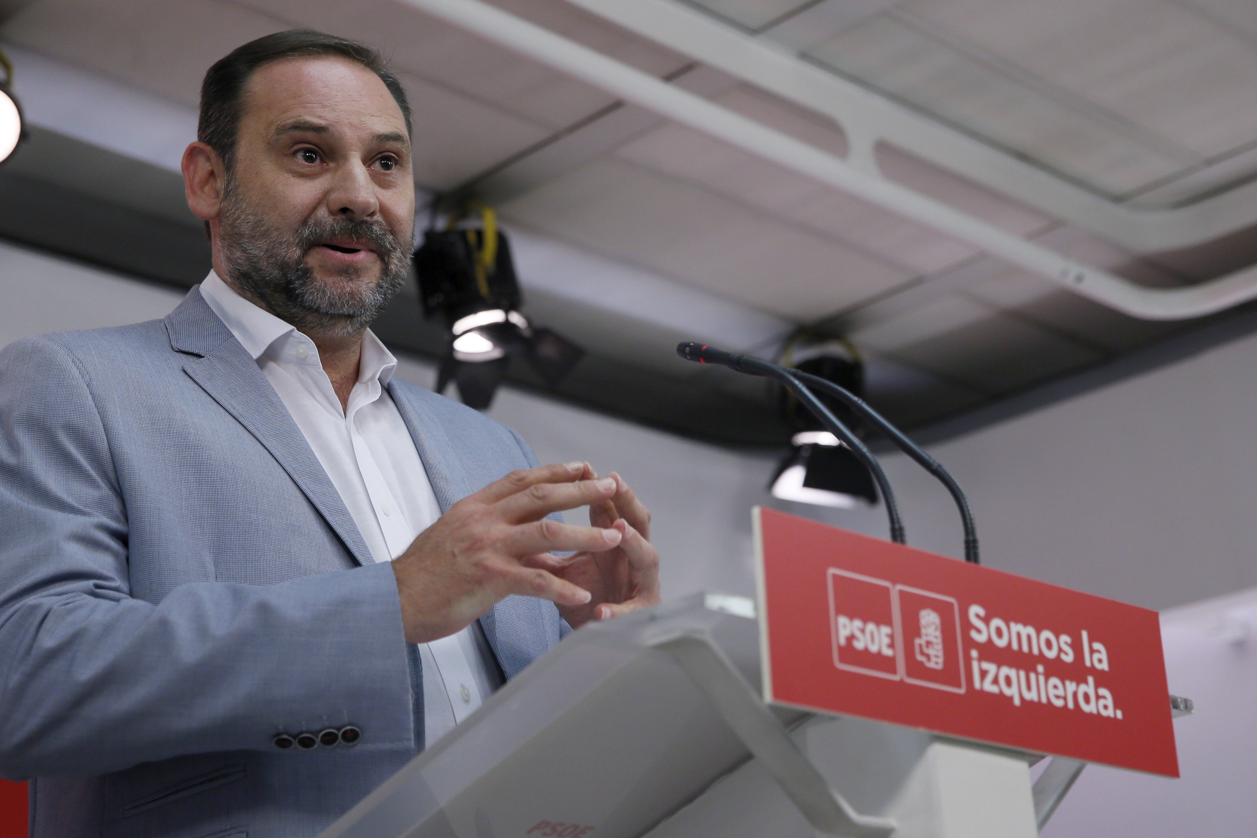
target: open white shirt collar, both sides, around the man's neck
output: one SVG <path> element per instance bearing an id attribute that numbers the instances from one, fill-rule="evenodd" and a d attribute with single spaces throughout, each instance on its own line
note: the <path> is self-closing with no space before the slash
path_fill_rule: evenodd
<path id="1" fill-rule="evenodd" d="M 322 367 L 318 361 L 318 351 L 313 340 L 297 330 L 292 323 L 280 320 L 278 317 L 255 305 L 241 297 L 234 288 L 222 281 L 216 271 L 210 270 L 201 283 L 201 297 L 206 304 L 219 315 L 219 319 L 231 330 L 240 346 L 244 347 L 254 361 L 264 354 L 274 354 L 277 359 L 290 363 L 302 363 L 292 352 L 280 349 L 277 344 L 300 342 L 309 344 L 310 353 L 308 361 L 313 366 Z M 362 358 L 358 361 L 358 381 L 368 382 L 380 379 L 381 384 L 387 384 L 397 368 L 397 358 L 388 352 L 376 334 L 367 329 L 362 335 Z"/>

